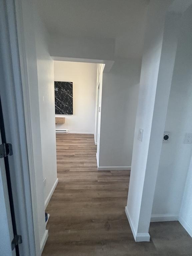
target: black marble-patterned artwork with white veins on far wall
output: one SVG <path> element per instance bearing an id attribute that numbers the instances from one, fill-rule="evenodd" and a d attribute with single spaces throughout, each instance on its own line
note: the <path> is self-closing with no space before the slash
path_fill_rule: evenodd
<path id="1" fill-rule="evenodd" d="M 55 114 L 73 115 L 73 82 L 55 81 Z"/>

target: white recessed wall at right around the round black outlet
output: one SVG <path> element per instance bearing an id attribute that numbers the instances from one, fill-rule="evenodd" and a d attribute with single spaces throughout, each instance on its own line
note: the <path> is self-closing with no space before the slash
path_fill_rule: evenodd
<path id="1" fill-rule="evenodd" d="M 170 132 L 170 141 L 162 144 L 152 209 L 153 220 L 156 215 L 160 215 L 165 220 L 166 217 L 169 217 L 167 220 L 178 218 L 191 159 L 191 144 L 183 143 L 185 133 L 192 132 L 191 11 L 191 8 L 188 8 L 182 17 L 164 128 L 165 131 Z M 184 211 L 182 212 L 184 214 Z"/>

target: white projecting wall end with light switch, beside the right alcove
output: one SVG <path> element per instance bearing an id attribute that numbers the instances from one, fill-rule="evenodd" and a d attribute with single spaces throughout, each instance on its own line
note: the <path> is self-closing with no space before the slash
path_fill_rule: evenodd
<path id="1" fill-rule="evenodd" d="M 170 3 L 151 1 L 148 10 L 126 207 L 136 241 L 150 239 L 148 230 L 177 47 L 179 16 L 169 14 L 165 24 Z M 142 141 L 138 140 L 139 128 L 143 129 Z"/>

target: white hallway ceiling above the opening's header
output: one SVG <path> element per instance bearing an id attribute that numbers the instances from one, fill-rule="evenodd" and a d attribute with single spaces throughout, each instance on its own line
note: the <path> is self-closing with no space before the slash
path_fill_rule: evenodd
<path id="1" fill-rule="evenodd" d="M 141 54 L 148 0 L 33 2 L 50 34 L 115 38 L 119 56 Z"/>

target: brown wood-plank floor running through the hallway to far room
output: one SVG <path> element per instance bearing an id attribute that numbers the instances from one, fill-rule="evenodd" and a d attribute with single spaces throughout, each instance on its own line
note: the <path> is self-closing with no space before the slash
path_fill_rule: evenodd
<path id="1" fill-rule="evenodd" d="M 97 171 L 93 135 L 57 134 L 59 182 L 46 211 L 43 256 L 189 256 L 179 222 L 150 225 L 151 241 L 135 243 L 127 217 L 130 171 Z"/>

